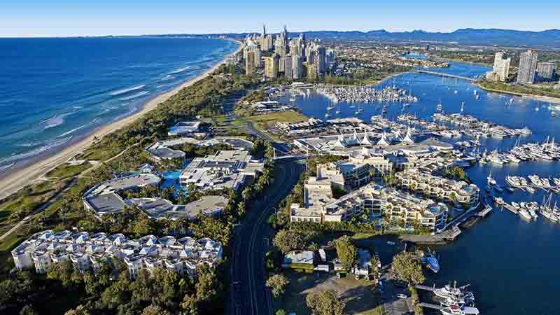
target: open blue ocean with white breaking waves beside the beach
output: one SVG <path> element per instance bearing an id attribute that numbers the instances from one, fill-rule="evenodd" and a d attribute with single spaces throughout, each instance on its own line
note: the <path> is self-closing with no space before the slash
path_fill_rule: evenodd
<path id="1" fill-rule="evenodd" d="M 0 38 L 0 174 L 139 111 L 236 48 L 216 38 Z"/>

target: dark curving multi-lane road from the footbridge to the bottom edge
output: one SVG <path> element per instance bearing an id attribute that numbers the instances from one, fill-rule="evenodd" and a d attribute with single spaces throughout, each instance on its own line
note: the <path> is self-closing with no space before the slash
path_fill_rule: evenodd
<path id="1" fill-rule="evenodd" d="M 276 162 L 274 182 L 264 196 L 251 204 L 244 222 L 234 231 L 228 308 L 231 315 L 273 314 L 272 295 L 265 286 L 265 253 L 274 235 L 268 218 L 274 213 L 276 204 L 293 189 L 302 171 L 303 166 L 297 162 Z"/>

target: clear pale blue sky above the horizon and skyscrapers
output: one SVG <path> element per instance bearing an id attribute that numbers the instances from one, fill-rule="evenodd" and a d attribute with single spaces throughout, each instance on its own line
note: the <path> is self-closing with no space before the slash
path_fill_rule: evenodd
<path id="1" fill-rule="evenodd" d="M 560 1 L 2 0 L 0 37 L 560 28 Z"/>

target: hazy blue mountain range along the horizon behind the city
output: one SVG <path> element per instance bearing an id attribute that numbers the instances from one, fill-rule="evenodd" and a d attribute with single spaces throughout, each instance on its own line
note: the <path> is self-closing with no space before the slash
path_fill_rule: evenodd
<path id="1" fill-rule="evenodd" d="M 246 36 L 248 33 L 235 34 Z M 414 41 L 460 43 L 463 45 L 533 46 L 560 48 L 560 29 L 546 31 L 516 31 L 512 29 L 457 29 L 449 33 L 422 30 L 391 32 L 376 31 L 304 31 L 307 38 L 331 40 Z M 233 34 L 214 34 L 233 35 Z"/>

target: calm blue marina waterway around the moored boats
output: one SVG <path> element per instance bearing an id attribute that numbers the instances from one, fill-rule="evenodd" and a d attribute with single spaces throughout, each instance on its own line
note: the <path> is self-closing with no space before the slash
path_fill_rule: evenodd
<path id="1" fill-rule="evenodd" d="M 489 70 L 473 64 L 450 64 L 449 68 L 430 71 L 474 78 Z M 423 73 L 404 73 L 386 80 L 376 88 L 386 85 L 410 90 L 419 97 L 419 102 L 411 103 L 405 109 L 402 104 L 389 103 L 388 118 L 408 112 L 430 120 L 436 111 L 437 102 L 442 102 L 443 110 L 447 113 L 461 112 L 461 102 L 465 102 L 465 114 L 507 127 L 529 127 L 533 134 L 521 137 L 521 144 L 545 141 L 547 137 L 560 139 L 560 118 L 551 115 L 553 110 L 549 104 L 513 97 L 513 105 L 507 106 L 506 102 L 512 98 L 510 95 L 485 92 L 467 80 Z M 474 90 L 480 96 L 478 100 L 475 99 Z M 325 118 L 328 104 L 328 99 L 313 92 L 295 102 L 304 115 L 321 119 Z M 356 116 L 357 107 L 351 108 L 350 105 L 339 103 L 341 113 L 332 118 Z M 358 106 L 358 103 L 353 105 Z M 366 122 L 370 121 L 371 116 L 379 115 L 383 106 L 381 103 L 360 105 L 364 111 L 357 117 Z M 493 148 L 506 150 L 514 146 L 515 141 L 517 139 L 481 139 L 489 151 Z M 482 190 L 486 187 L 486 176 L 490 171 L 496 181 L 503 185 L 507 175 L 559 177 L 560 162 L 521 162 L 501 167 L 475 165 L 467 170 L 472 181 Z M 540 202 L 543 192 L 531 195 L 517 191 L 501 195 L 509 202 Z M 450 281 L 457 281 L 458 285 L 470 283 L 477 298 L 477 307 L 485 315 L 560 314 L 556 304 L 556 297 L 560 295 L 560 251 L 557 241 L 560 241 L 560 224 L 550 223 L 543 217 L 527 222 L 510 211 L 494 209 L 493 213 L 472 228 L 463 229 L 453 243 L 435 248 L 441 255 L 442 269 L 437 275 L 428 274 L 427 283 L 435 283 L 436 286 L 443 286 Z M 439 313 L 427 310 L 426 314 Z"/>

